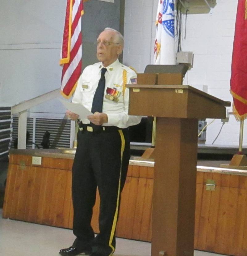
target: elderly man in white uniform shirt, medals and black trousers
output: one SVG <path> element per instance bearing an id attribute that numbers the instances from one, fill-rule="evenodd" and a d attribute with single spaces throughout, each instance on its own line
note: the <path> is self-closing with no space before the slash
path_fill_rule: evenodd
<path id="1" fill-rule="evenodd" d="M 78 80 L 72 102 L 83 104 L 93 115 L 77 120 L 77 150 L 72 168 L 74 207 L 73 233 L 76 239 L 61 255 L 112 255 L 120 194 L 124 187 L 130 158 L 128 126 L 141 117 L 128 115 L 127 83 L 136 83 L 136 73 L 118 60 L 124 46 L 123 36 L 106 28 L 97 39 L 97 58 Z M 99 233 L 94 237 L 90 225 L 96 188 L 100 195 Z"/>

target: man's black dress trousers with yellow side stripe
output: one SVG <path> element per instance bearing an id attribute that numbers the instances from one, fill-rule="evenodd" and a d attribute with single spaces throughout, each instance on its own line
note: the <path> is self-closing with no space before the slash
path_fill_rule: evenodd
<path id="1" fill-rule="evenodd" d="M 79 131 L 72 169 L 73 233 L 77 246 L 91 245 L 93 252 L 115 251 L 115 228 L 120 194 L 130 159 L 128 128 L 110 131 Z M 90 225 L 96 188 L 100 196 L 99 234 Z"/>

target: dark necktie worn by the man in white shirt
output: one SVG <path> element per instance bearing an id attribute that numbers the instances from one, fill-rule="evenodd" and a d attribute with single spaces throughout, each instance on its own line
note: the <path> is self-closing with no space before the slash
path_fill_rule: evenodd
<path id="1" fill-rule="evenodd" d="M 105 91 L 105 85 L 106 85 L 106 79 L 105 79 L 106 70 L 107 70 L 106 68 L 101 69 L 101 77 L 98 80 L 98 87 L 94 94 L 94 99 L 92 103 L 91 112 L 93 114 L 96 111 L 99 113 L 102 113 L 103 111 L 103 98 L 104 98 L 104 91 Z"/>

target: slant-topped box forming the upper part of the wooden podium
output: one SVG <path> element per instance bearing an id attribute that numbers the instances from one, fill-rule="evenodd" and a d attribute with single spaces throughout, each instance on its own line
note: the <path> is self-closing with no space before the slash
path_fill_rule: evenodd
<path id="1" fill-rule="evenodd" d="M 129 115 L 175 118 L 225 118 L 231 102 L 189 85 L 127 84 Z"/>

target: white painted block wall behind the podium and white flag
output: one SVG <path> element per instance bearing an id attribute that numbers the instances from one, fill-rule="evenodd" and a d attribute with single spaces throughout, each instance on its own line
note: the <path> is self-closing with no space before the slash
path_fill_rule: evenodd
<path id="1" fill-rule="evenodd" d="M 232 102 L 230 95 L 232 45 L 237 12 L 237 0 L 217 0 L 212 13 L 187 15 L 186 39 L 182 51 L 193 51 L 194 65 L 187 72 L 184 84 L 207 85 L 208 93 Z M 158 0 L 126 0 L 124 63 L 143 72 L 153 64 L 155 19 Z M 185 27 L 185 24 L 183 24 Z M 195 106 L 196 107 L 196 106 Z M 230 108 L 232 111 L 232 108 Z M 211 122 L 207 119 L 207 122 Z M 206 144 L 212 144 L 222 127 L 215 120 L 207 127 Z M 244 146 L 247 145 L 244 126 Z M 214 145 L 238 145 L 239 122 L 231 115 Z"/>

